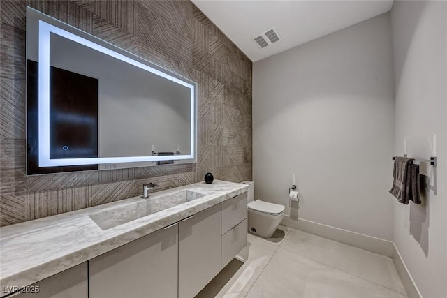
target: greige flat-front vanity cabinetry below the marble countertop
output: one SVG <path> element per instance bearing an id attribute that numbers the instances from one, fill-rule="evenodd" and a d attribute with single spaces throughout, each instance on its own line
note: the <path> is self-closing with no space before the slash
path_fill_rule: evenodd
<path id="1" fill-rule="evenodd" d="M 242 193 L 8 297 L 192 298 L 246 244 Z"/>

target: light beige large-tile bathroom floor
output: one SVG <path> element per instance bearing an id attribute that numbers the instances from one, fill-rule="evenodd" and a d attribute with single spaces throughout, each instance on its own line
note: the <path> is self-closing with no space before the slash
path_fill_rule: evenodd
<path id="1" fill-rule="evenodd" d="M 408 298 L 393 260 L 282 225 L 247 246 L 197 297 Z"/>

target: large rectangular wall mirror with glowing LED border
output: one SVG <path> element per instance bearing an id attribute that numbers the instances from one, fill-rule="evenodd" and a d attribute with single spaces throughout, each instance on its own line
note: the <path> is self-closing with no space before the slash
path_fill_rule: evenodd
<path id="1" fill-rule="evenodd" d="M 196 161 L 196 83 L 27 8 L 27 173 Z"/>

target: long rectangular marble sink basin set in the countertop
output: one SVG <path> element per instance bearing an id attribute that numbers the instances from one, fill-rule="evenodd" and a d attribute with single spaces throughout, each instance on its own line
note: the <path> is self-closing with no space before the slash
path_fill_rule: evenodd
<path id="1" fill-rule="evenodd" d="M 179 204 L 191 202 L 198 198 L 202 198 L 203 193 L 184 189 L 173 193 L 165 193 L 157 195 L 153 193 L 149 198 L 132 202 L 120 207 L 104 210 L 95 214 L 90 214 L 90 218 L 103 230 L 114 228 L 117 225 L 135 221 L 135 219 L 155 214 L 156 212 L 175 207 Z"/>

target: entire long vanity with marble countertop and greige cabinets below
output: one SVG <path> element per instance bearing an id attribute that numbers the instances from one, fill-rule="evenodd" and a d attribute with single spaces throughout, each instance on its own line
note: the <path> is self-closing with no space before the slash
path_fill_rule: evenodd
<path id="1" fill-rule="evenodd" d="M 1 227 L 0 297 L 192 298 L 246 245 L 246 191 L 198 182 Z"/>

